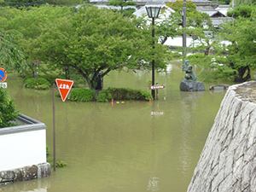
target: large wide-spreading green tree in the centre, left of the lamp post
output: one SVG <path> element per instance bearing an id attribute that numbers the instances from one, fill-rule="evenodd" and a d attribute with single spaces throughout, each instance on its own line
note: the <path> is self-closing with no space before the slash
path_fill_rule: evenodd
<path id="1" fill-rule="evenodd" d="M 23 45 L 50 68 L 73 67 L 94 90 L 112 70 L 150 68 L 153 57 L 156 67 L 166 67 L 168 48 L 155 44 L 152 49 L 152 29 L 138 24 L 137 19 L 84 5 L 76 15 L 47 23 L 40 37 Z"/>

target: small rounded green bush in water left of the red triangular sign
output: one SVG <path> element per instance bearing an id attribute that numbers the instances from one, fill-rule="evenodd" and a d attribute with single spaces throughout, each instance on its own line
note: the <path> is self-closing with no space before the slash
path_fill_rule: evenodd
<path id="1" fill-rule="evenodd" d="M 25 87 L 30 89 L 48 90 L 51 84 L 44 78 L 30 78 L 25 80 Z"/>

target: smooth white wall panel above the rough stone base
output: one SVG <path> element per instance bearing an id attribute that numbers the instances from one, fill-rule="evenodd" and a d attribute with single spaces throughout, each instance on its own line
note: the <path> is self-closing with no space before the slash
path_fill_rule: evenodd
<path id="1" fill-rule="evenodd" d="M 46 130 L 0 135 L 0 171 L 46 162 Z"/>

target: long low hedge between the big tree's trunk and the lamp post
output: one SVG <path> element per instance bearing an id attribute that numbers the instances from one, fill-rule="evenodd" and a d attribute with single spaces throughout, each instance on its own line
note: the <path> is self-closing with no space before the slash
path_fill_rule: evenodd
<path id="1" fill-rule="evenodd" d="M 152 99 L 152 96 L 143 90 L 132 90 L 129 88 L 108 88 L 102 90 L 97 97 L 97 102 L 110 102 L 114 100 L 146 100 Z"/>

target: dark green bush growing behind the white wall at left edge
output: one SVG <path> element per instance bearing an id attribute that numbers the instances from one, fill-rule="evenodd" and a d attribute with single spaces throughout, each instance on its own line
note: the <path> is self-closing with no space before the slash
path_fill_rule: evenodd
<path id="1" fill-rule="evenodd" d="M 16 111 L 14 100 L 11 100 L 7 89 L 0 87 L 0 128 L 15 126 L 20 113 Z"/>

